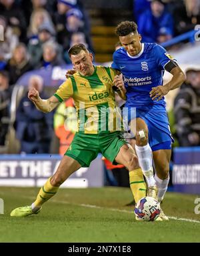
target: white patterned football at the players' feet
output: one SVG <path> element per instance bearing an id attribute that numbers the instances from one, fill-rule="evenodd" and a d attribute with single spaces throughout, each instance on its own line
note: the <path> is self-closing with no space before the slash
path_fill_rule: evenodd
<path id="1" fill-rule="evenodd" d="M 140 221 L 155 221 L 159 217 L 161 207 L 153 197 L 143 197 L 135 206 L 135 216 Z"/>

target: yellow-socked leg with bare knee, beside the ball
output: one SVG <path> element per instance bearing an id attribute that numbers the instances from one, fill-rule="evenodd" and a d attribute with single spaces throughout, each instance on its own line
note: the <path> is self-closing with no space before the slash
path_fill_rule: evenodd
<path id="1" fill-rule="evenodd" d="M 130 145 L 123 145 L 115 157 L 117 163 L 123 164 L 129 170 L 129 181 L 135 203 L 146 196 L 146 183 L 135 151 Z"/>

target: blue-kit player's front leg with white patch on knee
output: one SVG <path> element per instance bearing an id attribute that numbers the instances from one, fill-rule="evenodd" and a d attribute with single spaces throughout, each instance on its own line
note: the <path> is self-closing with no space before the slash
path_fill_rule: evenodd
<path id="1" fill-rule="evenodd" d="M 131 131 L 133 131 L 136 126 L 135 138 L 136 145 L 135 151 L 139 159 L 139 165 L 143 171 L 143 175 L 147 181 L 148 191 L 147 195 L 151 197 L 156 197 L 157 187 L 155 185 L 155 179 L 153 177 L 153 166 L 152 166 L 152 151 L 148 142 L 148 127 L 145 121 L 141 118 L 131 120 Z"/>

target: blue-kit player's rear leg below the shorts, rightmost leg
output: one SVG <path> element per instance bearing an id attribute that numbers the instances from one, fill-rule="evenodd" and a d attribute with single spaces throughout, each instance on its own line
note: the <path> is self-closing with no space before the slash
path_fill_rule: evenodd
<path id="1" fill-rule="evenodd" d="M 171 143 L 171 141 L 170 141 Z M 163 200 L 169 184 L 169 161 L 171 159 L 171 149 L 160 149 L 153 151 L 153 160 L 155 163 L 155 181 L 158 187 L 157 199 L 159 202 Z M 159 215 L 163 220 L 168 220 L 168 217 L 161 210 Z"/>

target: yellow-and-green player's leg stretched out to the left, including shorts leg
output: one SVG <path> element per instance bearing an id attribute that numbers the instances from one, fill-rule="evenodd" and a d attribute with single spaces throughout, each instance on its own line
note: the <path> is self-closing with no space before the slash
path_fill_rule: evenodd
<path id="1" fill-rule="evenodd" d="M 38 213 L 41 205 L 49 200 L 59 186 L 80 167 L 89 167 L 91 161 L 95 159 L 99 151 L 98 136 L 83 135 L 76 133 L 73 142 L 61 160 L 56 173 L 50 177 L 45 185 L 41 187 L 37 199 L 32 205 L 19 207 L 11 212 L 11 216 L 27 216 Z M 86 150 L 87 149 L 87 150 Z"/>

